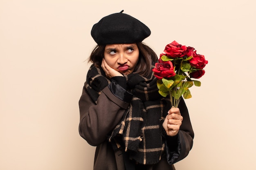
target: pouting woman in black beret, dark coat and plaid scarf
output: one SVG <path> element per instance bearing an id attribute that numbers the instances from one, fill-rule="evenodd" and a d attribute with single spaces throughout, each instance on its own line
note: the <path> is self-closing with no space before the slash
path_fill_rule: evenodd
<path id="1" fill-rule="evenodd" d="M 79 133 L 97 146 L 94 170 L 175 170 L 193 144 L 184 103 L 171 108 L 158 93 L 157 55 L 142 41 L 150 29 L 114 13 L 92 27 L 97 42 L 79 100 Z"/>

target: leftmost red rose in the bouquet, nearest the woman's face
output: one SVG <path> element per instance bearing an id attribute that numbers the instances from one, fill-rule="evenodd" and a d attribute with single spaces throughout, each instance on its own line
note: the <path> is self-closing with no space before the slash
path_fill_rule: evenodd
<path id="1" fill-rule="evenodd" d="M 154 75 L 157 79 L 175 76 L 173 63 L 171 61 L 155 63 L 155 68 L 153 68 L 152 71 L 155 72 Z"/>

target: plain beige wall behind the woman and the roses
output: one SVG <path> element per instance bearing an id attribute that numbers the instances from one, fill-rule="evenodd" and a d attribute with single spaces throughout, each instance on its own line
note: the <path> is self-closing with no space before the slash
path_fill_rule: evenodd
<path id="1" fill-rule="evenodd" d="M 209 64 L 186 100 L 195 131 L 177 170 L 255 170 L 254 0 L 0 0 L 0 169 L 92 170 L 78 100 L 92 25 L 124 9 L 157 54 L 176 40 Z"/>

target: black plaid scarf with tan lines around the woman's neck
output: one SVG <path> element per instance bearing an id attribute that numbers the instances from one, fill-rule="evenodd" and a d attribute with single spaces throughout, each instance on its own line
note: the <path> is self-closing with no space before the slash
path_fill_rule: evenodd
<path id="1" fill-rule="evenodd" d="M 168 108 L 171 108 L 170 100 L 159 95 L 153 73 L 147 78 L 131 73 L 126 79 L 127 91 L 133 94 L 133 98 L 108 139 L 114 150 L 124 148 L 129 158 L 137 163 L 155 164 L 164 151 L 162 123 Z M 109 83 L 102 68 L 90 67 L 86 88 L 96 104 L 101 91 Z"/>

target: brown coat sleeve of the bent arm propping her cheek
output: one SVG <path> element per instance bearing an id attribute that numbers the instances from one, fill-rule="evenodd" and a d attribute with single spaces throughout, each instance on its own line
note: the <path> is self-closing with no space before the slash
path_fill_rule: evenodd
<path id="1" fill-rule="evenodd" d="M 95 104 L 83 87 L 79 100 L 79 134 L 92 146 L 101 144 L 119 123 L 129 104 L 115 96 L 108 86 L 103 89 Z"/>

